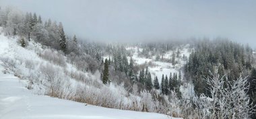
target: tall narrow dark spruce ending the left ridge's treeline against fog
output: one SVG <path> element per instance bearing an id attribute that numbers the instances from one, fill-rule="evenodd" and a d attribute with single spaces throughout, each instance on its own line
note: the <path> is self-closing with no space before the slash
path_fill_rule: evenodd
<path id="1" fill-rule="evenodd" d="M 62 23 L 59 22 L 59 45 L 61 46 L 61 50 L 66 53 L 67 51 L 67 40 L 65 36 L 65 32 L 63 30 Z"/>

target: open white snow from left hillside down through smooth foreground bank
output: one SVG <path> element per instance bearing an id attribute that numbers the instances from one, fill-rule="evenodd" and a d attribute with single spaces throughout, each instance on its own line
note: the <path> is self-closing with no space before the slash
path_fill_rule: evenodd
<path id="1" fill-rule="evenodd" d="M 36 54 L 36 50 L 43 50 L 40 49 L 41 46 L 36 45 L 39 44 L 32 44 L 32 42 L 30 42 L 26 48 L 22 48 L 18 45 L 18 38 L 8 38 L 7 36 L 4 36 L 3 33 L 1 34 L 0 28 L 0 58 L 8 58 L 8 60 L 13 60 L 18 63 L 18 65 L 15 65 L 15 68 L 13 69 L 15 69 L 15 72 L 20 73 L 18 75 L 20 77 L 36 73 L 36 70 L 38 69 L 34 68 L 30 70 L 26 68 L 26 66 L 24 66 L 26 63 L 24 62 L 27 60 L 34 61 L 37 66 L 44 62 L 49 62 L 44 61 L 44 59 L 40 58 L 38 54 Z M 67 63 L 66 69 L 69 70 L 74 68 Z M 71 81 L 76 83 L 76 81 Z M 0 60 L 0 119 L 170 118 L 170 116 L 166 116 L 164 114 L 102 108 L 69 100 L 61 100 L 55 97 L 37 95 L 38 88 L 44 87 L 41 83 L 43 83 L 43 81 L 34 81 L 33 89 L 27 89 L 26 87 L 28 87 L 30 81 L 26 78 L 20 79 L 18 77 L 14 77 L 13 72 L 9 71 L 8 67 L 6 68 L 6 64 Z"/>

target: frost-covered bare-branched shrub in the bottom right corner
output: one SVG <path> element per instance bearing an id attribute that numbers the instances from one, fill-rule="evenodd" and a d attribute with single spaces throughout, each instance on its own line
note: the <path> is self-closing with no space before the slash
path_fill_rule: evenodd
<path id="1" fill-rule="evenodd" d="M 202 111 L 210 111 L 204 114 L 205 118 L 249 118 L 253 110 L 246 93 L 249 88 L 246 78 L 239 77 L 232 82 L 226 82 L 216 74 L 208 77 L 206 81 L 210 85 L 211 98 L 208 97 L 208 100 L 199 101 L 195 105 L 198 108 L 204 107 L 201 108 Z M 225 87 L 225 83 L 228 87 Z"/>

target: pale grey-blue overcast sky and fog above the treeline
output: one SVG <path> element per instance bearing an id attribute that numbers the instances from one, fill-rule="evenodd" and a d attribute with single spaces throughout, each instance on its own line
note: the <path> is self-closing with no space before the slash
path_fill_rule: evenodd
<path id="1" fill-rule="evenodd" d="M 90 40 L 224 37 L 256 47 L 255 0 L 0 0 Z"/>

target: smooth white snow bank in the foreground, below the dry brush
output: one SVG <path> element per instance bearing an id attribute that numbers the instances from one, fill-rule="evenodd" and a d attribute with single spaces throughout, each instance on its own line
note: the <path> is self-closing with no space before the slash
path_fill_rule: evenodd
<path id="1" fill-rule="evenodd" d="M 1 63 L 0 63 L 1 65 Z M 25 88 L 26 81 L 3 74 L 0 66 L 0 118 L 102 118 L 102 119 L 165 119 L 163 114 L 102 108 L 54 97 L 34 95 Z"/>

